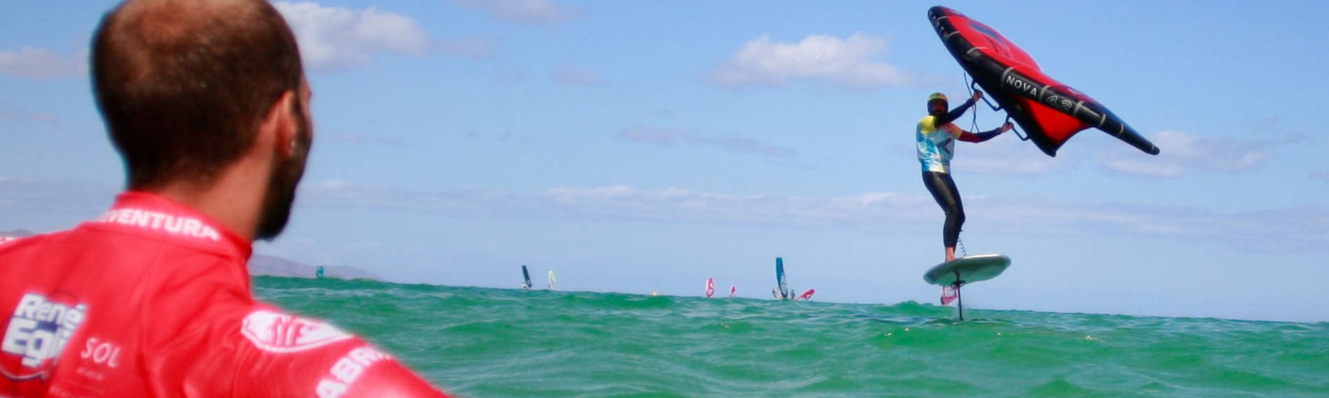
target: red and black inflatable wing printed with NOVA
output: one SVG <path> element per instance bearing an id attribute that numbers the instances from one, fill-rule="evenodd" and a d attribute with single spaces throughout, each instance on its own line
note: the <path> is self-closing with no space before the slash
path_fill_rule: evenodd
<path id="1" fill-rule="evenodd" d="M 1029 53 L 997 29 L 940 5 L 928 9 L 928 19 L 965 72 L 1049 157 L 1055 157 L 1062 143 L 1088 127 L 1151 155 L 1159 154 L 1159 147 L 1102 103 L 1043 74 Z"/>

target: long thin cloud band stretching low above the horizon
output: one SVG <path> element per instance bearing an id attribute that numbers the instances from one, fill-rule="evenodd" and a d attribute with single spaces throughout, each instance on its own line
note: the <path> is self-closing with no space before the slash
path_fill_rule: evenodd
<path id="1" fill-rule="evenodd" d="M 941 210 L 930 196 L 867 192 L 848 196 L 739 195 L 629 186 L 556 187 L 540 192 L 416 192 L 354 183 L 306 186 L 310 206 L 379 207 L 457 216 L 571 218 L 662 223 L 743 224 L 876 232 L 936 232 Z M 973 228 L 1037 236 L 1152 236 L 1255 249 L 1329 245 L 1329 211 L 1284 208 L 1213 212 L 1168 206 L 965 198 Z"/>

